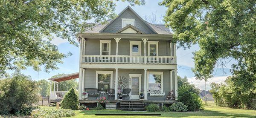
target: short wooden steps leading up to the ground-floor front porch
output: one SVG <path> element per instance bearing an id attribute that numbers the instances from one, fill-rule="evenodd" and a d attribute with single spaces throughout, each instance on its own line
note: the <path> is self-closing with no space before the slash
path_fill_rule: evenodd
<path id="1" fill-rule="evenodd" d="M 120 101 L 121 110 L 144 110 L 143 101 L 125 100 Z"/>

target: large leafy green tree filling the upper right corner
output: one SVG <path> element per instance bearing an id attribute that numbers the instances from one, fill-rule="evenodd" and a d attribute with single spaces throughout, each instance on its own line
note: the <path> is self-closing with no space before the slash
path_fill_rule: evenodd
<path id="1" fill-rule="evenodd" d="M 200 46 L 193 58 L 198 79 L 212 77 L 214 67 L 230 58 L 237 61 L 233 75 L 247 72 L 255 78 L 255 0 L 163 0 L 160 5 L 168 7 L 164 21 L 174 31 L 173 42 L 185 49 Z"/>

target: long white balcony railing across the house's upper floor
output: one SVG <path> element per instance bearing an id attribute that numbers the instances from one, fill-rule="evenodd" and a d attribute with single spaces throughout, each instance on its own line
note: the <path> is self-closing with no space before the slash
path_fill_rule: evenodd
<path id="1" fill-rule="evenodd" d="M 145 59 L 144 59 L 145 58 Z M 83 55 L 82 63 L 176 64 L 174 56 Z"/>

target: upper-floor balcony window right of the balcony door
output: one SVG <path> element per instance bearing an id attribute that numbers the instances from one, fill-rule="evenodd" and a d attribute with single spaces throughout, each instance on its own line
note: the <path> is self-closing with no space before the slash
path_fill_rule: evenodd
<path id="1" fill-rule="evenodd" d="M 148 55 L 158 56 L 158 41 L 148 41 Z"/>

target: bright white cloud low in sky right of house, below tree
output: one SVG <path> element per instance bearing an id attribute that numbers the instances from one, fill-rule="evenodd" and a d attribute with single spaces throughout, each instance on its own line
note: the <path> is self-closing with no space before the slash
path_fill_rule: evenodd
<path id="1" fill-rule="evenodd" d="M 206 90 L 211 89 L 210 84 L 212 82 L 215 83 L 224 83 L 224 81 L 226 80 L 227 76 L 221 76 L 221 77 L 212 77 L 209 78 L 208 81 L 206 81 Z M 196 87 L 198 87 L 199 89 L 205 89 L 205 81 L 201 81 L 201 80 L 196 80 L 195 77 L 192 78 L 188 78 L 189 83 L 195 84 Z"/>

